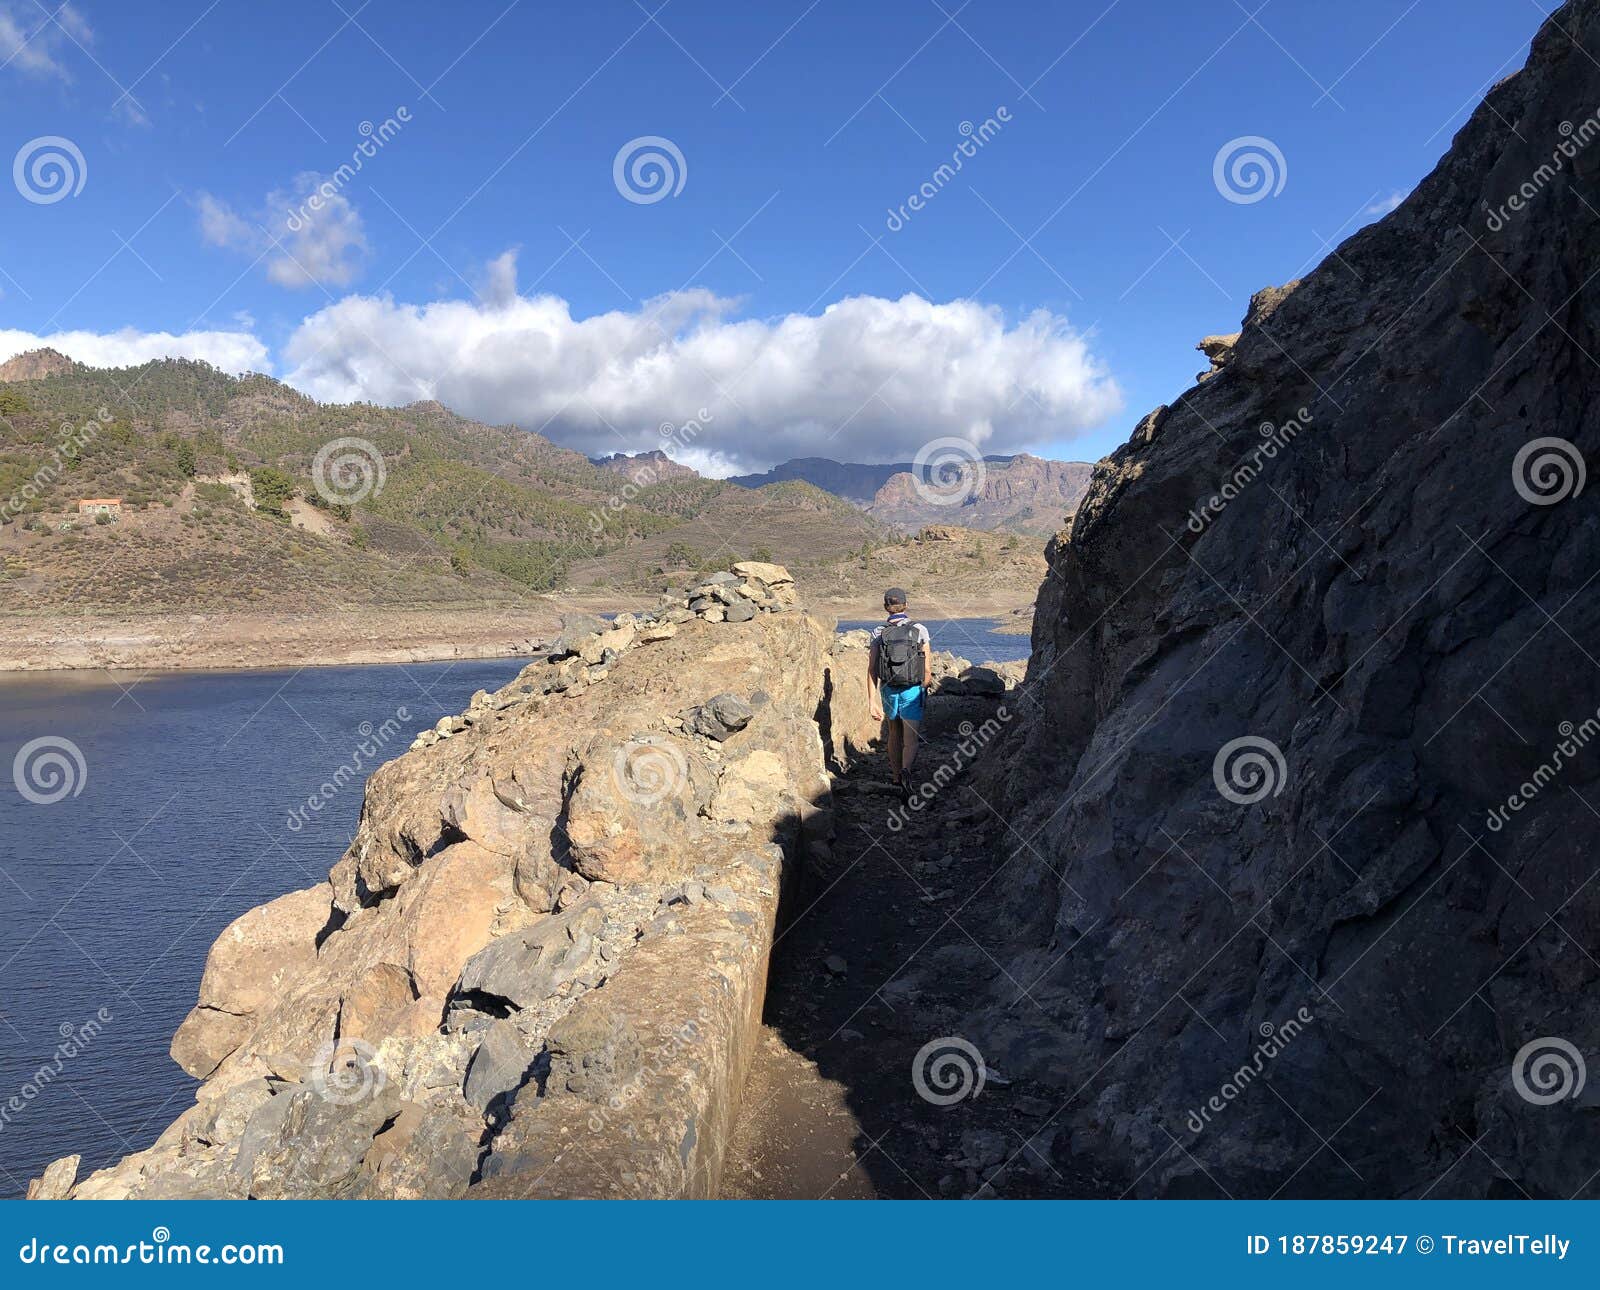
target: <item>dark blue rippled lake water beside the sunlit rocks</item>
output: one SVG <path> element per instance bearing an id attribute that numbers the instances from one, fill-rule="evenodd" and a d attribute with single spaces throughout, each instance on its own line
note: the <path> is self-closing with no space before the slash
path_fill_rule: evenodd
<path id="1" fill-rule="evenodd" d="M 971 659 L 1027 656 L 990 619 L 926 626 Z M 0 1196 L 74 1151 L 85 1173 L 139 1151 L 190 1104 L 166 1048 L 211 941 L 322 882 L 370 767 L 525 663 L 0 675 Z M 384 747 L 304 810 L 363 741 Z M 19 760 L 29 792 L 59 800 L 29 800 Z"/>

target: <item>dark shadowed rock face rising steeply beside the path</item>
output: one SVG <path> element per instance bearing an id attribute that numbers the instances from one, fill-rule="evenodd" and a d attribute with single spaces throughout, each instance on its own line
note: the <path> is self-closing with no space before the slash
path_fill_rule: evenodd
<path id="1" fill-rule="evenodd" d="M 1597 0 L 1051 544 L 970 1032 L 1118 1189 L 1595 1194 L 1586 50 Z"/>

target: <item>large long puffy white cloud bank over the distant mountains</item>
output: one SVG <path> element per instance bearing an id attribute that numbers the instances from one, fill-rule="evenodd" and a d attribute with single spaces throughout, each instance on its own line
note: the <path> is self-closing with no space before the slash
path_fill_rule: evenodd
<path id="1" fill-rule="evenodd" d="M 1085 338 L 1037 310 L 1006 323 L 974 301 L 853 296 L 821 315 L 738 318 L 736 301 L 674 291 L 574 318 L 515 294 L 491 264 L 480 301 L 346 296 L 307 317 L 283 360 L 318 399 L 438 399 L 592 455 L 659 447 L 659 426 L 710 416 L 680 458 L 726 474 L 790 456 L 902 461 L 957 435 L 1008 451 L 1086 431 L 1122 397 Z"/>

